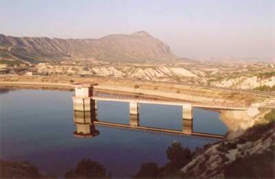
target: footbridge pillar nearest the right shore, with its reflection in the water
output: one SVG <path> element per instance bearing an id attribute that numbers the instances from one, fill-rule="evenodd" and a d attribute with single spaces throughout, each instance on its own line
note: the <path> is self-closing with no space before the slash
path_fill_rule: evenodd
<path id="1" fill-rule="evenodd" d="M 182 132 L 184 134 L 192 134 L 193 126 L 193 108 L 191 104 L 182 106 Z"/>

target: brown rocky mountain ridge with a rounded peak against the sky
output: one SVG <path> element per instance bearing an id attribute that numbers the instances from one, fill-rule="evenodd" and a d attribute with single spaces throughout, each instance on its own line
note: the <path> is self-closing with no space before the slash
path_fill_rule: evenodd
<path id="1" fill-rule="evenodd" d="M 14 37 L 0 34 L 1 60 L 23 62 L 145 62 L 173 60 L 166 43 L 147 32 L 113 34 L 99 39 Z"/>

